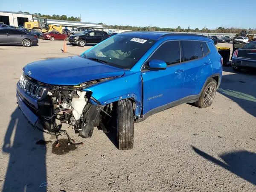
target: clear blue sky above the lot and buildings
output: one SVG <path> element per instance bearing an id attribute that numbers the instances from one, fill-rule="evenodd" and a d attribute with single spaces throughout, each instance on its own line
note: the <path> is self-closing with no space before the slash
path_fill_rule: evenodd
<path id="1" fill-rule="evenodd" d="M 255 4 L 256 0 L 247 0 L 244 9 L 244 4 L 236 3 L 236 0 L 52 0 L 44 3 L 35 0 L 0 0 L 0 11 L 21 10 L 67 17 L 79 17 L 81 14 L 81 20 L 84 22 L 102 22 L 107 25 L 161 28 L 190 26 L 191 29 L 202 29 L 204 26 L 208 29 L 233 26 L 255 29 Z M 244 11 L 244 16 L 236 16 L 238 10 Z"/>

